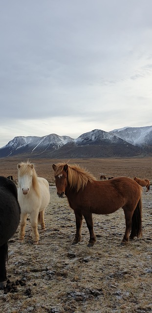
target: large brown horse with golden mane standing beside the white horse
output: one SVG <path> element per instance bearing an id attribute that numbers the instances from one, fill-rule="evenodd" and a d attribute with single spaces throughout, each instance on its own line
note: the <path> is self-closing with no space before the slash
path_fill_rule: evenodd
<path id="1" fill-rule="evenodd" d="M 142 187 L 128 177 L 117 177 L 106 181 L 95 177 L 79 165 L 59 163 L 52 165 L 57 195 L 67 197 L 76 218 L 76 235 L 73 244 L 81 240 L 83 216 L 90 234 L 88 246 L 93 246 L 96 238 L 93 230 L 92 213 L 110 214 L 123 208 L 126 231 L 122 240 L 125 245 L 130 239 L 141 235 Z M 130 233 L 131 229 L 131 233 Z"/>

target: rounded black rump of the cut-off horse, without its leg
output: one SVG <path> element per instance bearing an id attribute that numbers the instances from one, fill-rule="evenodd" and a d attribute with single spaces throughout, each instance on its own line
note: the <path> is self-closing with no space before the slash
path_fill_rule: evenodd
<path id="1" fill-rule="evenodd" d="M 15 183 L 0 176 L 0 246 L 16 232 L 20 223 L 20 213 Z"/>

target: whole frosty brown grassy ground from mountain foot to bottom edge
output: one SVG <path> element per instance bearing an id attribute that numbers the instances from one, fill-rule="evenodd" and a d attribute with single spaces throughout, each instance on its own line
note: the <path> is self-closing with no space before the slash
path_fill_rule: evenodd
<path id="1" fill-rule="evenodd" d="M 0 175 L 13 175 L 26 159 L 0 159 Z M 48 179 L 50 204 L 45 210 L 46 231 L 38 228 L 39 245 L 32 244 L 27 221 L 24 242 L 18 243 L 19 228 L 9 240 L 7 277 L 21 281 L 17 289 L 0 290 L 0 313 L 148 313 L 152 312 L 152 185 L 143 187 L 141 239 L 121 246 L 125 232 L 123 210 L 93 215 L 96 243 L 87 247 L 85 221 L 81 243 L 72 246 L 75 216 L 66 198 L 59 199 L 52 164 L 78 163 L 97 179 L 134 176 L 152 182 L 152 158 L 30 159 L 38 176 Z"/>

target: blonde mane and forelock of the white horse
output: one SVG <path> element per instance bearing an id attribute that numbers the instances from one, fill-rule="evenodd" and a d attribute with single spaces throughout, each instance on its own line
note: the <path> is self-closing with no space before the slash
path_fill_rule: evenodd
<path id="1" fill-rule="evenodd" d="M 19 177 L 22 177 L 23 175 L 32 175 L 32 185 L 35 190 L 35 192 L 40 195 L 40 187 L 39 187 L 39 182 L 38 182 L 38 176 L 34 168 L 34 164 L 30 162 L 21 162 L 20 168 L 18 167 L 18 174 Z"/>

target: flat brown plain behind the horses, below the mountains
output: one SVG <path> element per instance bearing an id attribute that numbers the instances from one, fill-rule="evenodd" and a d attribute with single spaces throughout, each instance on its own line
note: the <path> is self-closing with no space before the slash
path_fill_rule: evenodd
<path id="1" fill-rule="evenodd" d="M 13 175 L 17 179 L 17 164 L 27 161 L 27 158 L 0 158 L 0 175 Z M 96 179 L 100 179 L 100 175 L 104 174 L 108 177 L 127 176 L 130 178 L 139 177 L 147 178 L 152 182 L 152 157 L 145 158 L 79 158 L 79 159 L 33 159 L 29 158 L 36 167 L 38 176 L 54 182 L 53 163 L 77 163 L 88 169 Z"/>

